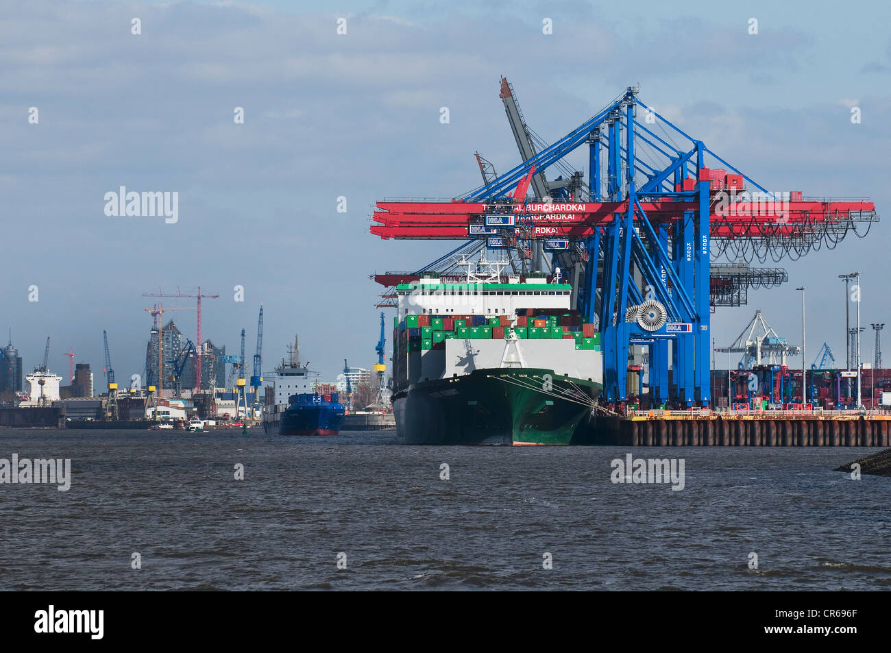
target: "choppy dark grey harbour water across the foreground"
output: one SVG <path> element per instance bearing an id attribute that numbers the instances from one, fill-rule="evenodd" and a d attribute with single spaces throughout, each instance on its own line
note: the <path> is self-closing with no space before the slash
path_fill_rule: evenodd
<path id="1" fill-rule="evenodd" d="M 871 451 L 0 430 L 72 466 L 0 485 L 0 589 L 888 590 L 891 478 L 832 471 Z M 611 483 L 629 452 L 682 458 L 683 491 Z"/>

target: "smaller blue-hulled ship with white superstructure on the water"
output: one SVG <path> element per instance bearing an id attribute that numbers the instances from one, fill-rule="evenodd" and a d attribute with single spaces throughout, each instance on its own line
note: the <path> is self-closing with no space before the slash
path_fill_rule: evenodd
<path id="1" fill-rule="evenodd" d="M 288 359 L 275 368 L 274 404 L 263 413 L 266 433 L 282 436 L 336 436 L 343 424 L 344 406 L 339 396 L 315 392 L 319 373 L 300 364 L 297 336 L 288 346 Z"/>

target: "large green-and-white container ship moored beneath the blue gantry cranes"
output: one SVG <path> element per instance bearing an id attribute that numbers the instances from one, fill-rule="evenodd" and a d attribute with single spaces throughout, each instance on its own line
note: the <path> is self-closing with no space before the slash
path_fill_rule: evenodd
<path id="1" fill-rule="evenodd" d="M 396 286 L 397 437 L 419 445 L 573 444 L 601 395 L 603 358 L 594 325 L 570 310 L 571 286 L 559 270 L 550 279 L 505 278 L 506 262 L 460 263 L 464 282 L 423 273 Z"/>

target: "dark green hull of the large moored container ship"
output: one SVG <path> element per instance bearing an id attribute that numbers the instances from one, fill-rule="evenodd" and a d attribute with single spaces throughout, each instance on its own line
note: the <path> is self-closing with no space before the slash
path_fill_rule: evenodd
<path id="1" fill-rule="evenodd" d="M 541 368 L 475 370 L 393 396 L 396 433 L 413 445 L 571 445 L 601 384 Z"/>

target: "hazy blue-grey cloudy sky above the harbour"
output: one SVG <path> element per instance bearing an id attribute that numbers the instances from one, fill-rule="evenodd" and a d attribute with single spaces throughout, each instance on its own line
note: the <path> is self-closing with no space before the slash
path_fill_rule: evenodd
<path id="1" fill-rule="evenodd" d="M 143 293 L 200 286 L 220 295 L 204 301 L 202 338 L 227 353 L 243 328 L 254 354 L 263 303 L 263 371 L 295 334 L 325 378 L 344 358 L 370 368 L 381 289 L 369 275 L 458 244 L 381 241 L 374 202 L 460 196 L 479 185 L 475 151 L 516 166 L 502 75 L 548 141 L 640 85 L 642 102 L 764 187 L 866 196 L 882 216 L 888 25 L 883 3 L 0 2 L 3 343 L 9 328 L 29 371 L 49 336 L 51 371 L 65 375 L 70 347 L 98 383 L 106 330 L 123 380 L 143 373 L 157 301 Z M 573 162 L 587 174 L 584 155 Z M 121 186 L 176 192 L 176 222 L 106 215 Z M 844 361 L 838 274 L 858 270 L 871 361 L 870 322 L 891 329 L 887 239 L 882 220 L 776 264 L 788 284 L 713 315 L 718 346 L 756 309 L 798 344 L 805 285 L 808 364 L 824 341 Z M 194 311 L 169 316 L 194 337 Z M 391 311 L 386 322 L 389 334 Z"/>

